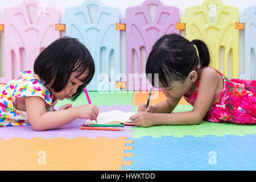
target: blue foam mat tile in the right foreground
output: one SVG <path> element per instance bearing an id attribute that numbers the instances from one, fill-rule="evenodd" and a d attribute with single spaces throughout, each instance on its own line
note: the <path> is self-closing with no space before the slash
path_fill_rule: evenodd
<path id="1" fill-rule="evenodd" d="M 131 170 L 255 170 L 256 135 L 133 138 Z"/>

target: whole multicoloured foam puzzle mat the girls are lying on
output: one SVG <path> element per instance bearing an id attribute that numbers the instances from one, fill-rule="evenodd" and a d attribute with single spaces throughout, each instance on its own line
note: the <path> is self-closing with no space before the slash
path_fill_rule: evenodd
<path id="1" fill-rule="evenodd" d="M 162 92 L 150 104 L 164 101 Z M 100 112 L 137 112 L 148 92 L 89 92 Z M 154 96 L 154 95 L 153 95 Z M 154 98 L 154 97 L 153 97 Z M 88 104 L 59 101 L 73 107 Z M 174 112 L 192 110 L 181 100 Z M 0 170 L 255 170 L 256 125 L 202 121 L 191 126 L 125 126 L 123 131 L 81 130 L 84 119 L 59 129 L 0 127 Z M 42 158 L 44 156 L 44 158 Z"/>

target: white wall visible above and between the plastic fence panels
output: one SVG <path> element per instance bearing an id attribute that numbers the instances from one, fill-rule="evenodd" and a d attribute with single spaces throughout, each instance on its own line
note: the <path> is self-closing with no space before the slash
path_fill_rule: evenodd
<path id="1" fill-rule="evenodd" d="M 56 7 L 60 11 L 60 18 L 65 18 L 65 9 L 72 6 L 80 6 L 84 0 L 38 0 L 44 5 L 49 7 Z M 100 0 L 104 6 L 116 7 L 120 11 L 120 18 L 125 18 L 125 10 L 130 6 L 139 6 L 144 0 Z M 201 5 L 204 0 L 160 0 L 163 5 L 175 6 L 180 10 L 180 18 L 185 16 L 185 9 L 189 6 Z M 0 18 L 3 18 L 3 10 L 6 7 L 18 6 L 22 0 L 0 0 Z M 255 0 L 222 0 L 222 3 L 227 6 L 236 6 L 240 11 L 240 17 L 243 15 L 243 11 L 246 7 L 256 6 Z M 64 32 L 61 35 L 65 35 Z M 184 32 L 181 32 L 184 35 Z M 0 67 L 4 60 L 3 52 L 3 32 L 0 32 Z M 126 56 L 126 35 L 125 31 L 121 31 L 121 72 L 126 73 L 125 69 L 125 56 Z M 242 72 L 243 66 L 243 30 L 240 30 L 240 73 Z M 3 76 L 3 69 L 0 69 L 0 77 Z"/>

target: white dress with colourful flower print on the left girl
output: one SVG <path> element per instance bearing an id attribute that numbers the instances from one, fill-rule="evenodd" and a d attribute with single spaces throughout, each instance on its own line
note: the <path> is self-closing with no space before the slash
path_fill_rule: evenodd
<path id="1" fill-rule="evenodd" d="M 8 84 L 0 84 L 0 126 L 30 125 L 27 112 L 15 109 L 16 98 L 38 96 L 46 102 L 47 111 L 57 103 L 46 86 L 32 70 L 21 72 L 19 77 Z"/>

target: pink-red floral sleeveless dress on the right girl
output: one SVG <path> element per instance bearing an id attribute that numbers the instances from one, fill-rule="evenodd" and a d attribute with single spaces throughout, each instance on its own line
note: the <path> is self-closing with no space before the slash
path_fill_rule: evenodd
<path id="1" fill-rule="evenodd" d="M 224 88 L 218 96 L 213 97 L 212 104 L 206 115 L 206 120 L 211 122 L 231 122 L 242 125 L 255 124 L 256 80 L 240 80 L 234 78 L 229 80 L 222 73 L 220 75 L 224 80 Z M 197 81 L 196 84 L 198 88 Z M 183 97 L 193 106 L 196 101 L 197 90 L 191 97 Z"/>

